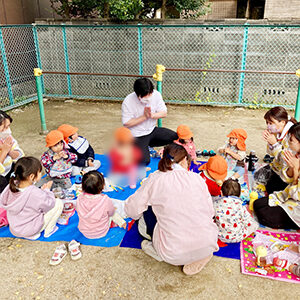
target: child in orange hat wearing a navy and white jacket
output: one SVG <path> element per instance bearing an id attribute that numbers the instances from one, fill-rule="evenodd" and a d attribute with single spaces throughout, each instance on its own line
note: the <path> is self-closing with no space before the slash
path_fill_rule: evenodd
<path id="1" fill-rule="evenodd" d="M 101 166 L 99 160 L 95 160 L 95 152 L 88 140 L 78 135 L 78 128 L 68 124 L 62 124 L 58 130 L 64 135 L 64 140 L 70 147 L 70 152 L 78 157 L 73 164 L 72 176 L 79 175 L 81 171 L 85 173 L 97 170 Z"/>

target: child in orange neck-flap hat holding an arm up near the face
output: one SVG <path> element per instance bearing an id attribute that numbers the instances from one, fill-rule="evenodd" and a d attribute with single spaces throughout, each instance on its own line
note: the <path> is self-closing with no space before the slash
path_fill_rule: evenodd
<path id="1" fill-rule="evenodd" d="M 218 149 L 218 152 L 226 159 L 228 171 L 233 172 L 233 178 L 244 175 L 244 159 L 246 157 L 247 132 L 242 128 L 233 129 L 227 137 L 226 144 Z"/>

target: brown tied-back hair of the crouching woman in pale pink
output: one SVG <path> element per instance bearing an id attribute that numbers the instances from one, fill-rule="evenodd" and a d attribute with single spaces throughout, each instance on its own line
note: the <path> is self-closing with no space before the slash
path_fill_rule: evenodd
<path id="1" fill-rule="evenodd" d="M 163 157 L 158 163 L 158 170 L 161 172 L 167 172 L 168 170 L 172 169 L 173 163 L 179 163 L 182 161 L 185 157 L 188 159 L 188 164 L 191 162 L 191 157 L 187 153 L 187 151 L 182 147 L 181 145 L 172 143 L 170 145 L 167 145 L 164 148 Z"/>

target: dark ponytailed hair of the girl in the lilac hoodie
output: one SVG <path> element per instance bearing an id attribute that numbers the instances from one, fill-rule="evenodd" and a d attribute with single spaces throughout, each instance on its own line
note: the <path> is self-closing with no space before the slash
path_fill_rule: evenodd
<path id="1" fill-rule="evenodd" d="M 9 180 L 9 188 L 13 193 L 19 191 L 18 186 L 21 181 L 27 180 L 27 178 L 33 174 L 35 177 L 38 175 L 38 172 L 42 172 L 41 162 L 33 157 L 27 156 L 20 158 L 15 167 L 14 172 L 12 173 Z"/>

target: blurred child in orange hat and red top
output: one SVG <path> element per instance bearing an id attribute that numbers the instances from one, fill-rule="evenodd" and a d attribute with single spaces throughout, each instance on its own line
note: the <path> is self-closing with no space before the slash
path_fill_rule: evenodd
<path id="1" fill-rule="evenodd" d="M 136 188 L 137 168 L 142 154 L 140 149 L 134 145 L 134 137 L 130 129 L 120 127 L 115 130 L 114 144 L 109 158 L 111 172 L 114 175 L 121 175 L 121 177 L 128 175 L 130 188 Z"/>

